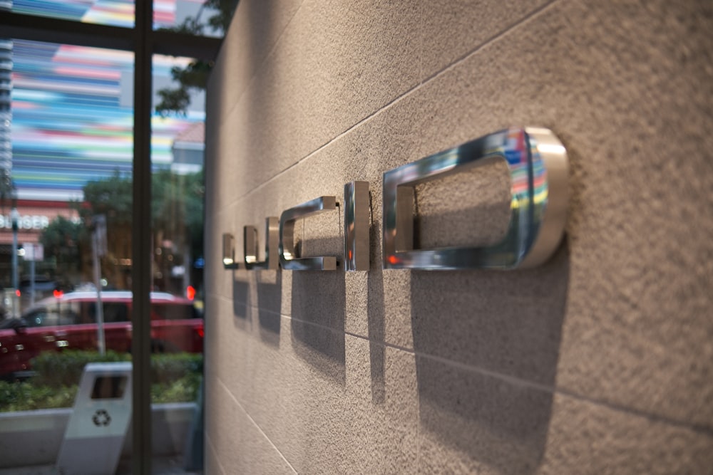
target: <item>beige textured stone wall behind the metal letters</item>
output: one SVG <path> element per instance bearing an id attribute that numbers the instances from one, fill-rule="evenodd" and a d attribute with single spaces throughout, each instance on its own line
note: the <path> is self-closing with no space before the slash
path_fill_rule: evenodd
<path id="1" fill-rule="evenodd" d="M 709 0 L 241 0 L 207 97 L 207 473 L 713 473 L 711 31 Z M 382 271 L 381 174 L 509 125 L 568 148 L 553 259 Z M 447 240 L 502 226 L 471 178 L 434 190 Z M 354 179 L 369 272 L 222 269 L 223 232 Z M 297 228 L 341 251 L 339 212 Z"/>

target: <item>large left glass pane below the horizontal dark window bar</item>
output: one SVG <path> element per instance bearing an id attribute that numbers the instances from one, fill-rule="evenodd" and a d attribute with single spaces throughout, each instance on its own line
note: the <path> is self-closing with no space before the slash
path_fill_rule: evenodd
<path id="1" fill-rule="evenodd" d="M 26 40 L 0 46 L 9 58 L 0 77 L 11 91 L 9 133 L 0 135 L 0 150 L 11 150 L 0 162 L 7 178 L 0 181 L 0 415 L 14 412 L 22 424 L 34 409 L 71 414 L 87 363 L 131 360 L 134 58 Z M 101 253 L 92 240 L 99 214 L 113 238 Z M 98 306 L 97 288 L 122 297 Z M 46 428 L 61 420 L 48 419 Z M 60 436 L 63 429 L 53 428 Z M 0 437 L 0 467 L 54 464 L 58 456 L 18 459 L 14 439 Z"/>

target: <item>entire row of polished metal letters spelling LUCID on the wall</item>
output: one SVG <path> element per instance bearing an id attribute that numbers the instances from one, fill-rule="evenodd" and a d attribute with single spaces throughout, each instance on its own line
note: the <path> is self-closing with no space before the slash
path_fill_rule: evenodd
<path id="1" fill-rule="evenodd" d="M 511 217 L 502 241 L 485 247 L 414 249 L 415 187 L 493 160 L 506 162 Z M 384 173 L 382 254 L 384 268 L 526 268 L 546 261 L 562 238 L 567 209 L 568 158 L 548 129 L 501 130 Z M 223 234 L 228 269 L 334 271 L 336 256 L 300 257 L 294 246 L 298 219 L 337 209 L 323 196 L 265 219 L 265 259 L 258 257 L 257 229 L 243 228 L 243 260 L 235 259 L 232 234 Z M 369 270 L 369 183 L 344 185 L 344 269 Z"/>

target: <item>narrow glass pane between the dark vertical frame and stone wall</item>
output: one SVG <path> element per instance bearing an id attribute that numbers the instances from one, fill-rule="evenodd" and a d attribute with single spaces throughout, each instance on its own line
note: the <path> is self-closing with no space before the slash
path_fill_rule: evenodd
<path id="1" fill-rule="evenodd" d="M 201 87 L 178 80 L 195 71 L 191 58 L 153 56 L 154 109 L 167 98 L 183 102 L 160 108 L 151 122 L 153 288 L 152 381 L 154 407 L 180 404 L 194 417 L 202 410 L 203 148 L 205 99 Z M 199 81 L 202 83 L 202 81 Z M 162 417 L 154 412 L 155 417 Z M 189 434 L 189 437 L 192 437 Z M 195 441 L 194 441 L 195 442 Z M 185 447 L 199 447 L 188 443 Z M 185 465 L 202 454 L 184 454 Z"/>

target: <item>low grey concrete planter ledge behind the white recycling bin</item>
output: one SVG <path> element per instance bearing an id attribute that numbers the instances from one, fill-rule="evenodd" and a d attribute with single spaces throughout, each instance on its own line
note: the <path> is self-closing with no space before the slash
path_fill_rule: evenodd
<path id="1" fill-rule="evenodd" d="M 196 411 L 195 402 L 153 404 L 155 456 L 182 454 Z M 54 464 L 72 408 L 0 413 L 0 468 Z M 131 454 L 131 427 L 122 456 Z"/>

